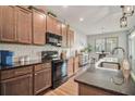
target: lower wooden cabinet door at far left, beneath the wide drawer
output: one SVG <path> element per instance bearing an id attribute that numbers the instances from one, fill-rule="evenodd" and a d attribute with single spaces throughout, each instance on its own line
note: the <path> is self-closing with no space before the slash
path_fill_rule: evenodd
<path id="1" fill-rule="evenodd" d="M 1 94 L 3 96 L 29 96 L 33 94 L 32 74 L 10 78 L 1 81 Z"/>

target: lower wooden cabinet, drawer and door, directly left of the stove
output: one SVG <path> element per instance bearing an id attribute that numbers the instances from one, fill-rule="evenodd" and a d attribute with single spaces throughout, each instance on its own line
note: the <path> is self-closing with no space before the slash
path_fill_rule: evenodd
<path id="1" fill-rule="evenodd" d="M 49 87 L 51 87 L 51 65 L 35 65 L 34 94 L 38 94 L 39 92 L 46 90 Z"/>

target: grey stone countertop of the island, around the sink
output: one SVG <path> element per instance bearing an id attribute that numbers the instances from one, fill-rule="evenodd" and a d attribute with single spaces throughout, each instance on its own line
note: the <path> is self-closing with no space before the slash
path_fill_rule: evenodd
<path id="1" fill-rule="evenodd" d="M 116 85 L 112 81 L 112 77 L 122 78 L 121 72 L 95 68 L 95 65 L 91 65 L 91 67 L 87 68 L 82 74 L 78 74 L 74 80 L 79 84 L 85 84 L 119 94 L 135 94 L 135 83 L 132 78 L 130 78 L 128 81 Z"/>

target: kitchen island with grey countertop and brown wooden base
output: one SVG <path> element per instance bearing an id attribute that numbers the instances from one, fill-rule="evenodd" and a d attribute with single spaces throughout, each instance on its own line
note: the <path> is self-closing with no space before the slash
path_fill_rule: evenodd
<path id="1" fill-rule="evenodd" d="M 121 71 L 96 68 L 95 64 L 93 64 L 89 68 L 78 74 L 74 80 L 78 83 L 79 96 L 135 94 L 135 83 L 132 78 L 116 84 L 113 81 L 113 77 L 123 79 Z"/>

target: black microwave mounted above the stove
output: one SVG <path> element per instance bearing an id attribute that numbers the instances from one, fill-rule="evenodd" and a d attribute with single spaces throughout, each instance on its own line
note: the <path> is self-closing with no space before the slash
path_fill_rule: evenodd
<path id="1" fill-rule="evenodd" d="M 62 36 L 52 33 L 46 33 L 46 42 L 51 46 L 61 47 Z"/>

